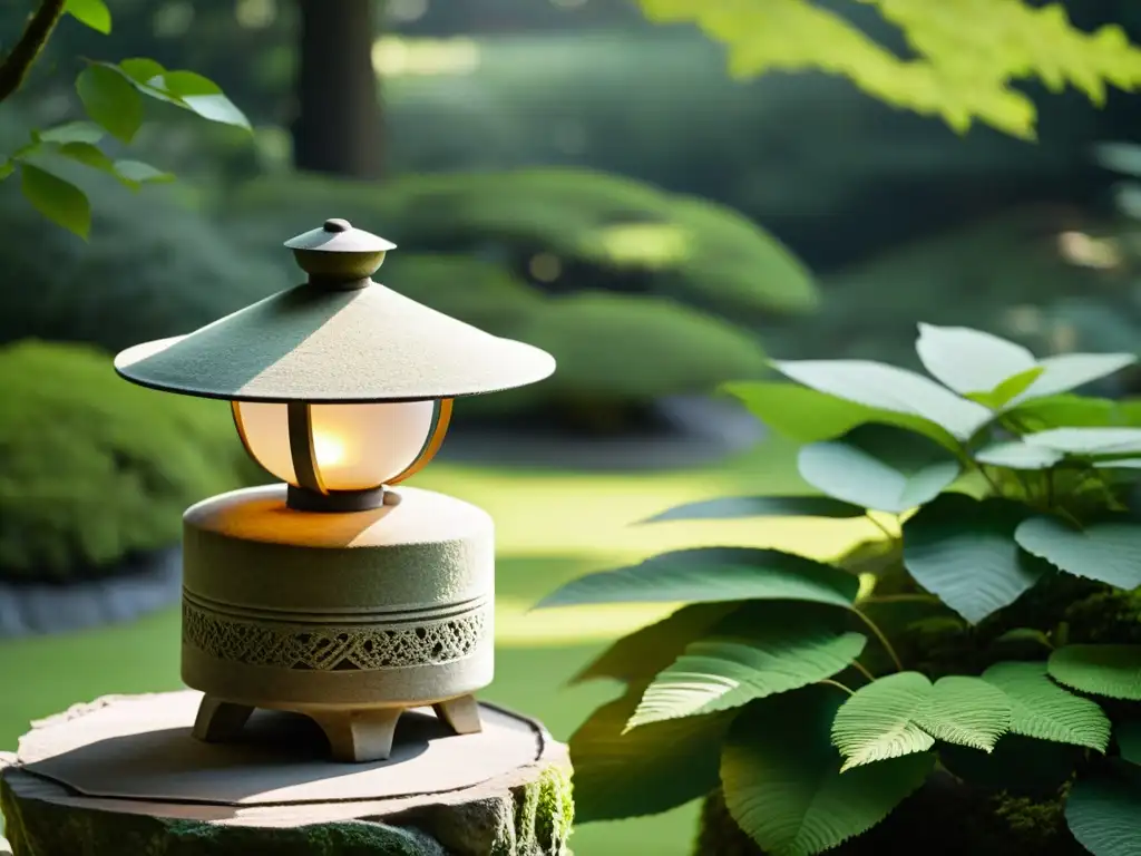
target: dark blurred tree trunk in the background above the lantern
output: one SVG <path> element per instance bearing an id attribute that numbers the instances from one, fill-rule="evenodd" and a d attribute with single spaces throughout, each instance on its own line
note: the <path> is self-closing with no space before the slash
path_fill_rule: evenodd
<path id="1" fill-rule="evenodd" d="M 383 124 L 372 67 L 373 0 L 298 0 L 300 49 L 293 165 L 377 178 Z"/>

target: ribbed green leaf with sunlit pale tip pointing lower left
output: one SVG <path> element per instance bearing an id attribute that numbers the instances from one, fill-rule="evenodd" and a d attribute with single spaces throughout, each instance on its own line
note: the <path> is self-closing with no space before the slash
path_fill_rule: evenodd
<path id="1" fill-rule="evenodd" d="M 847 669 L 867 639 L 816 604 L 743 607 L 650 681 L 628 728 L 713 713 L 815 684 Z"/>

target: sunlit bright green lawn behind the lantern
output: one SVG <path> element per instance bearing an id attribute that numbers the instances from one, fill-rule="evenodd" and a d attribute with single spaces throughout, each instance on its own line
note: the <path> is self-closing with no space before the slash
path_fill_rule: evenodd
<path id="1" fill-rule="evenodd" d="M 564 689 L 570 675 L 607 640 L 669 607 L 606 607 L 527 614 L 536 599 L 582 573 L 653 552 L 701 544 L 771 546 L 830 556 L 865 522 L 734 520 L 636 526 L 655 511 L 704 496 L 783 488 L 804 492 L 788 447 L 755 452 L 701 471 L 586 475 L 438 465 L 416 484 L 476 502 L 496 520 L 499 653 L 488 700 L 541 718 L 560 738 L 616 687 Z M 170 609 L 92 632 L 0 644 L 0 750 L 15 749 L 27 722 L 108 693 L 173 689 L 178 613 Z M 696 806 L 667 815 L 580 826 L 577 856 L 687 856 Z M 126 855 L 124 855 L 126 856 Z"/>

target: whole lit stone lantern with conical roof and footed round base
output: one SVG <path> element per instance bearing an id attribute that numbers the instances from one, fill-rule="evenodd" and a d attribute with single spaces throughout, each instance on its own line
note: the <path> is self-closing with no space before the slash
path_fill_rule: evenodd
<path id="1" fill-rule="evenodd" d="M 439 451 L 454 399 L 542 380 L 555 361 L 373 282 L 395 244 L 346 220 L 285 245 L 307 282 L 128 348 L 115 369 L 229 401 L 280 481 L 184 515 L 195 736 L 238 740 L 256 708 L 281 709 L 315 719 L 341 760 L 385 759 L 410 708 L 479 730 L 474 693 L 494 671 L 492 520 L 403 483 Z"/>

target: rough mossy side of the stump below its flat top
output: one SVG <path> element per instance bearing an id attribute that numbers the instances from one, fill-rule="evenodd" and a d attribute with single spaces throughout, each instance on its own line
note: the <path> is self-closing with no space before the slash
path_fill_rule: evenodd
<path id="1" fill-rule="evenodd" d="M 76 705 L 38 727 L 82 729 L 84 716 L 116 701 Z M 0 808 L 14 856 L 569 856 L 566 748 L 535 727 L 543 738 L 534 760 L 508 773 L 439 793 L 351 801 L 108 799 L 80 794 L 0 756 Z"/>

